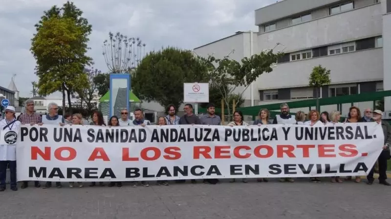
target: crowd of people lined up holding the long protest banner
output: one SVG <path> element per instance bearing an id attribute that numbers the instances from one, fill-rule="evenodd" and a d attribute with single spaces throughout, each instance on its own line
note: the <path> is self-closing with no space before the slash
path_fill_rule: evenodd
<path id="1" fill-rule="evenodd" d="M 19 128 L 22 124 L 59 124 L 61 126 L 67 125 L 85 125 L 86 120 L 83 119 L 81 114 L 66 114 L 64 117 L 58 114 L 58 105 L 55 103 L 50 103 L 47 107 L 48 114 L 39 115 L 34 111 L 34 101 L 27 100 L 25 102 L 26 112 L 23 113 L 18 119 L 15 117 L 15 108 L 8 106 L 5 109 L 5 118 L 0 121 L 0 130 L 9 131 L 14 130 L 19 131 Z M 186 104 L 184 107 L 185 114 L 181 117 L 177 116 L 177 109 L 174 105 L 167 107 L 167 115 L 159 117 L 157 120 L 157 125 L 221 125 L 221 118 L 215 113 L 215 105 L 209 104 L 207 106 L 207 113 L 201 116 L 197 116 L 193 113 L 193 106 L 191 104 Z M 332 126 L 338 123 L 358 123 L 358 122 L 376 122 L 380 124 L 384 132 L 384 146 L 383 151 L 381 152 L 378 158 L 378 172 L 379 172 L 379 183 L 383 185 L 390 186 L 391 184 L 386 181 L 387 179 L 387 160 L 390 159 L 390 144 L 391 144 L 391 125 L 382 120 L 382 111 L 367 109 L 364 112 L 364 116 L 361 116 L 360 109 L 357 107 L 351 107 L 348 112 L 348 118 L 344 121 L 341 121 L 341 112 L 334 110 L 330 113 L 328 112 L 318 112 L 317 110 L 311 110 L 307 114 L 303 111 L 296 112 L 295 115 L 289 113 L 289 107 L 286 103 L 281 105 L 281 113 L 276 115 L 272 120 L 270 118 L 270 111 L 267 109 L 262 109 L 259 112 L 258 119 L 254 121 L 254 126 L 262 126 L 267 124 L 283 124 L 283 125 L 304 125 L 304 126 Z M 134 120 L 129 119 L 128 110 L 121 110 L 120 117 L 112 116 L 109 118 L 108 124 L 105 124 L 103 115 L 100 111 L 95 111 L 91 115 L 92 122 L 89 125 L 92 126 L 148 126 L 151 125 L 151 122 L 144 118 L 144 113 L 141 109 L 134 110 Z M 228 123 L 228 126 L 250 126 L 243 119 L 243 114 L 241 111 L 236 110 L 233 114 L 233 120 Z M 0 191 L 4 191 L 5 178 L 6 178 L 6 169 L 7 167 L 10 170 L 10 186 L 11 190 L 18 190 L 17 179 L 16 179 L 16 146 L 15 145 L 0 145 Z M 374 182 L 373 178 L 374 167 L 367 176 L 367 184 L 372 184 Z M 346 181 L 351 181 L 352 177 L 345 178 Z M 230 182 L 235 182 L 235 179 L 231 179 Z M 242 179 L 243 183 L 247 183 L 248 179 Z M 319 183 L 320 179 L 317 177 L 310 178 L 311 182 Z M 331 177 L 330 181 L 332 183 L 343 183 L 343 180 L 340 177 Z M 192 183 L 196 183 L 196 180 L 191 180 Z M 257 179 L 257 182 L 268 182 L 267 178 Z M 280 182 L 290 182 L 294 183 L 293 178 L 281 178 Z M 355 183 L 361 182 L 361 177 L 356 176 L 354 179 Z M 123 182 L 110 182 L 109 187 L 122 186 Z M 130 182 L 131 186 L 136 187 L 138 182 Z M 148 187 L 150 184 L 147 181 L 139 182 L 142 186 Z M 176 180 L 175 183 L 185 183 L 185 180 Z M 206 179 L 203 183 L 216 184 L 220 183 L 218 179 Z M 168 181 L 157 181 L 157 185 L 169 185 Z M 61 188 L 61 182 L 55 183 L 57 188 Z M 40 182 L 34 182 L 35 187 L 41 187 Z M 52 186 L 52 182 L 45 182 L 42 186 L 43 188 L 49 188 Z M 95 182 L 89 184 L 89 186 L 96 186 Z M 99 182 L 99 186 L 105 186 L 105 183 Z M 28 182 L 22 182 L 21 188 L 27 188 Z M 74 183 L 70 182 L 69 187 L 73 188 Z M 78 182 L 78 187 L 83 187 L 83 183 Z"/>

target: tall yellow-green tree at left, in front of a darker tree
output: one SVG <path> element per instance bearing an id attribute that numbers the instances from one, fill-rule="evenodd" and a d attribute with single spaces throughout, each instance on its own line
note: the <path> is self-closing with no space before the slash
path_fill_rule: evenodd
<path id="1" fill-rule="evenodd" d="M 31 52 L 37 65 L 39 77 L 38 93 L 48 95 L 55 91 L 68 92 L 68 106 L 71 110 L 70 93 L 74 88 L 88 87 L 84 66 L 91 63 L 87 52 L 87 34 L 73 18 L 52 17 L 42 22 L 42 26 L 32 39 Z M 71 112 L 71 111 L 70 111 Z M 65 113 L 65 111 L 64 111 Z"/>

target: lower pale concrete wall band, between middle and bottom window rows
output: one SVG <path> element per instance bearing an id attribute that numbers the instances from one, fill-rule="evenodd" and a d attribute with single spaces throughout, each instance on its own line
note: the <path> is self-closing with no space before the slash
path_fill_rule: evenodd
<path id="1" fill-rule="evenodd" d="M 376 48 L 285 62 L 277 64 L 273 72 L 262 74 L 255 85 L 258 90 L 305 87 L 313 67 L 319 64 L 331 71 L 332 84 L 382 80 L 382 56 L 382 48 Z"/>

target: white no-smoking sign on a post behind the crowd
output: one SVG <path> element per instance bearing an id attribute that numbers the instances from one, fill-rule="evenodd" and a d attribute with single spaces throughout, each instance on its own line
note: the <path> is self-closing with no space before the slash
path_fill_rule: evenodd
<path id="1" fill-rule="evenodd" d="M 209 103 L 209 83 L 183 83 L 183 101 L 195 103 L 194 111 L 198 115 L 198 103 Z"/>

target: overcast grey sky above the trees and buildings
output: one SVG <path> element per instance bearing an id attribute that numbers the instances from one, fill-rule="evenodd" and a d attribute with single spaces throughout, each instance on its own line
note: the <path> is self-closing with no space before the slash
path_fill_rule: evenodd
<path id="1" fill-rule="evenodd" d="M 29 49 L 34 24 L 44 10 L 66 0 L 0 0 L 0 86 L 7 88 L 13 74 L 20 96 L 31 96 L 35 59 Z M 108 69 L 102 44 L 109 31 L 140 37 L 146 51 L 176 46 L 193 49 L 237 31 L 257 31 L 254 10 L 275 0 L 74 0 L 92 24 L 88 55 L 94 67 Z M 61 97 L 59 94 L 50 95 Z"/>

